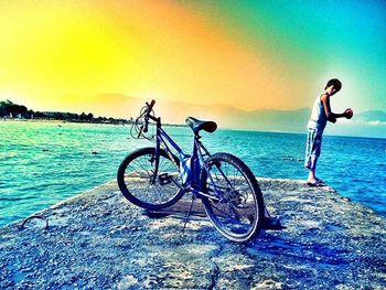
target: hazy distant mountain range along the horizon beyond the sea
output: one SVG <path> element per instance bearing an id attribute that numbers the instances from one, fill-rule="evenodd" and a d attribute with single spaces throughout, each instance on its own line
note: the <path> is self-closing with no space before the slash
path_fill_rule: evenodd
<path id="1" fill-rule="evenodd" d="M 84 99 L 84 98 L 78 98 Z M 304 132 L 310 118 L 310 108 L 294 110 L 258 109 L 243 110 L 225 105 L 196 105 L 187 101 L 175 101 L 168 99 L 156 99 L 154 111 L 164 122 L 184 123 L 186 117 L 192 116 L 199 119 L 214 120 L 219 128 L 262 130 L 262 131 L 289 131 Z M 136 118 L 143 100 L 119 94 L 101 94 L 88 97 L 87 101 L 82 100 L 79 108 L 87 106 L 87 110 L 96 114 L 110 115 L 121 118 Z M 92 110 L 93 104 L 106 104 Z M 237 104 L 237 100 L 235 100 Z M 96 108 L 96 107 L 95 107 Z M 100 111 L 100 112 L 99 112 Z M 340 119 L 336 126 L 328 126 L 326 132 L 331 135 L 355 135 L 362 136 L 368 132 L 376 135 L 379 126 L 386 122 L 386 112 L 369 110 L 354 115 L 352 120 Z M 375 128 L 376 127 L 376 128 Z M 380 126 L 384 127 L 384 126 Z M 380 135 L 384 128 L 382 128 Z"/>

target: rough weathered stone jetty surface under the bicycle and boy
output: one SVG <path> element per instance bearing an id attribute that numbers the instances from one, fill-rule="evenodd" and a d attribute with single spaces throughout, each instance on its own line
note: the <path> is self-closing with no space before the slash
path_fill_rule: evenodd
<path id="1" fill-rule="evenodd" d="M 109 182 L 0 228 L 0 289 L 385 289 L 386 219 L 301 181 L 258 180 L 285 228 L 240 245 L 206 217 L 149 217 Z"/>

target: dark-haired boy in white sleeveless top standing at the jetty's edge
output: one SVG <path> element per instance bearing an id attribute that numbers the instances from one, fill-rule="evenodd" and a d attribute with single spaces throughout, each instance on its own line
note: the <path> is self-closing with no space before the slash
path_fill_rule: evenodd
<path id="1" fill-rule="evenodd" d="M 319 96 L 312 108 L 311 118 L 308 122 L 308 136 L 305 148 L 304 167 L 309 170 L 309 176 L 307 184 L 310 186 L 324 185 L 323 181 L 315 175 L 317 161 L 320 157 L 322 135 L 326 122 L 336 122 L 337 118 L 351 119 L 353 117 L 353 110 L 346 109 L 342 114 L 335 114 L 331 111 L 330 98 L 335 95 L 342 88 L 342 83 L 337 78 L 330 79 L 324 87 L 324 93 Z"/>

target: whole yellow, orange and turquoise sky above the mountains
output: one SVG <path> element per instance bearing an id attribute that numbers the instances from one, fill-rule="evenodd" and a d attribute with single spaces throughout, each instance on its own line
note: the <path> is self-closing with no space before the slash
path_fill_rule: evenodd
<path id="1" fill-rule="evenodd" d="M 386 110 L 380 0 L 0 0 L 0 100 L 35 110 L 88 103 L 118 116 L 125 97 L 299 109 L 333 77 L 336 110 Z"/>

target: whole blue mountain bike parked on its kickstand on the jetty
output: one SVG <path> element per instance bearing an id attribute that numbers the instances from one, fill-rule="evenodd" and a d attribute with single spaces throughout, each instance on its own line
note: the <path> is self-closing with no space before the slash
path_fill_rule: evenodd
<path id="1" fill-rule="evenodd" d="M 124 196 L 137 206 L 157 211 L 191 192 L 193 198 L 201 198 L 206 215 L 223 236 L 238 243 L 254 238 L 262 227 L 265 205 L 250 169 L 233 154 L 211 154 L 204 147 L 200 132 L 214 132 L 214 121 L 186 118 L 194 138 L 192 154 L 184 153 L 162 129 L 154 104 L 146 103 L 131 127 L 132 137 L 154 140 L 156 146 L 131 152 L 119 165 L 117 181 Z M 156 123 L 156 135 L 150 138 L 149 123 Z"/>

